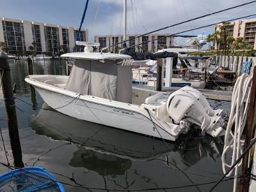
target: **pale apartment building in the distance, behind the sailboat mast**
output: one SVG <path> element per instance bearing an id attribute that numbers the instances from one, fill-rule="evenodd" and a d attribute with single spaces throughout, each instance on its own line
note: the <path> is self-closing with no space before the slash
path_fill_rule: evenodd
<path id="1" fill-rule="evenodd" d="M 127 39 L 132 39 L 135 36 L 139 36 L 140 34 L 127 34 Z M 133 40 L 129 40 L 126 42 L 128 47 L 131 47 L 132 50 L 141 51 L 141 52 L 156 52 L 162 48 L 170 48 L 173 47 L 173 37 L 170 37 L 171 34 L 147 34 L 145 36 L 141 36 L 140 38 L 136 38 Z M 109 47 L 111 45 L 115 45 L 116 43 L 120 43 L 123 41 L 122 35 L 105 35 L 105 36 L 94 36 L 94 40 L 97 43 L 100 43 L 101 48 Z M 150 42 L 148 42 L 150 41 Z M 143 43 L 141 45 L 138 45 Z M 136 45 L 136 46 L 134 46 Z M 138 45 L 138 46 L 137 46 Z M 134 47 L 132 47 L 134 46 Z M 118 50 L 122 47 L 122 44 L 117 45 L 116 47 L 111 47 L 110 50 Z"/>

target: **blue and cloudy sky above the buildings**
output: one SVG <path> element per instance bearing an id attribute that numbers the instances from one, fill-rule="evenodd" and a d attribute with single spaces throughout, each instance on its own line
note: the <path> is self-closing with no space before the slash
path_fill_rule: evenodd
<path id="1" fill-rule="evenodd" d="M 252 0 L 127 0 L 127 31 L 141 34 L 190 18 L 222 10 Z M 79 27 L 86 0 L 0 0 L 0 17 L 31 20 L 61 26 Z M 171 27 L 157 33 L 178 33 L 255 13 L 256 3 L 224 13 Z M 98 11 L 97 11 L 98 10 Z M 83 28 L 94 35 L 123 33 L 123 0 L 90 0 Z M 202 35 L 214 31 L 207 27 L 186 34 Z"/>

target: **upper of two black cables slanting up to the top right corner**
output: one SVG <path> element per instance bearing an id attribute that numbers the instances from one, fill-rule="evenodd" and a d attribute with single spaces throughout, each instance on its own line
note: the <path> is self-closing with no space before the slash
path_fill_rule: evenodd
<path id="1" fill-rule="evenodd" d="M 187 23 L 187 22 L 191 22 L 191 21 L 197 20 L 197 19 L 199 19 L 199 18 L 208 17 L 208 16 L 211 16 L 211 15 L 215 15 L 215 14 L 217 14 L 217 13 L 221 13 L 221 12 L 223 12 L 223 11 L 232 10 L 232 9 L 234 9 L 234 8 L 238 8 L 238 7 L 245 6 L 245 5 L 247 5 L 247 4 L 252 4 L 252 3 L 255 3 L 255 2 L 256 2 L 256 1 L 250 1 L 250 2 L 248 2 L 248 3 L 243 3 L 243 4 L 239 4 L 239 5 L 237 5 L 237 6 L 232 6 L 232 7 L 230 7 L 230 8 L 226 8 L 226 9 L 224 9 L 224 10 L 215 11 L 215 12 L 213 12 L 213 13 L 208 13 L 208 14 L 202 15 L 202 16 L 200 16 L 200 17 L 191 18 L 191 19 L 189 19 L 189 20 L 185 20 L 185 21 L 179 22 L 179 23 L 177 23 L 177 24 L 173 24 L 173 25 L 171 25 L 171 26 L 162 27 L 161 29 L 157 29 L 157 30 L 154 30 L 154 31 L 150 31 L 150 32 L 148 32 L 148 33 L 144 33 L 144 34 L 141 34 L 141 35 L 139 35 L 139 36 L 135 36 L 134 38 L 131 38 L 131 39 L 129 39 L 129 40 L 134 40 L 134 39 L 139 38 L 139 37 L 141 37 L 141 36 L 145 36 L 146 34 L 155 33 L 155 32 L 157 32 L 157 31 L 161 31 L 161 30 L 163 30 L 163 29 L 168 29 L 168 28 L 174 27 L 174 26 L 179 26 L 180 24 L 185 24 L 185 23 Z M 125 42 L 127 42 L 127 41 L 129 41 L 129 40 L 121 41 L 120 43 L 125 43 Z M 110 47 L 115 47 L 116 45 L 119 45 L 120 43 L 116 43 L 116 44 L 114 44 L 114 45 L 110 45 L 108 48 L 110 48 Z"/>

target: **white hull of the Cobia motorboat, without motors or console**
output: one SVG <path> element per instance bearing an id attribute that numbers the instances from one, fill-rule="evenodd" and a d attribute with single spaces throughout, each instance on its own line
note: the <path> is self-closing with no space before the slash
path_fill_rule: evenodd
<path id="1" fill-rule="evenodd" d="M 31 75 L 25 80 L 35 87 L 47 105 L 62 114 L 166 140 L 174 141 L 179 136 L 179 126 L 163 122 L 151 112 L 148 115 L 147 110 L 138 105 L 79 95 L 76 92 L 49 85 L 47 80 L 39 82 L 36 77 L 49 79 L 51 75 Z"/>

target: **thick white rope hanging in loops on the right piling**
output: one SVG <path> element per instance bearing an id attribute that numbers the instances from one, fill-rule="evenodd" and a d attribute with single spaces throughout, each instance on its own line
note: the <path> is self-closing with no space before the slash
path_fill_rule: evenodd
<path id="1" fill-rule="evenodd" d="M 223 173 L 227 174 L 227 176 L 232 174 L 232 165 L 234 165 L 237 159 L 241 159 L 239 156 L 243 154 L 244 140 L 241 140 L 241 136 L 246 123 L 251 84 L 252 76 L 243 74 L 241 77 L 237 78 L 237 82 L 232 93 L 230 116 L 228 120 L 227 131 L 225 133 L 225 145 L 223 148 L 223 154 L 221 156 Z M 245 106 L 244 100 L 246 100 Z M 234 133 L 232 133 L 233 124 L 235 124 Z M 227 156 L 227 152 L 229 150 L 232 150 L 232 163 L 230 165 L 228 165 L 228 163 L 225 161 L 225 157 Z M 238 167 L 241 166 L 241 164 L 242 161 L 238 161 L 236 164 L 235 178 L 237 176 Z M 226 167 L 230 168 L 229 172 L 226 171 Z M 236 182 L 237 179 L 234 181 L 234 191 L 236 191 Z"/>

